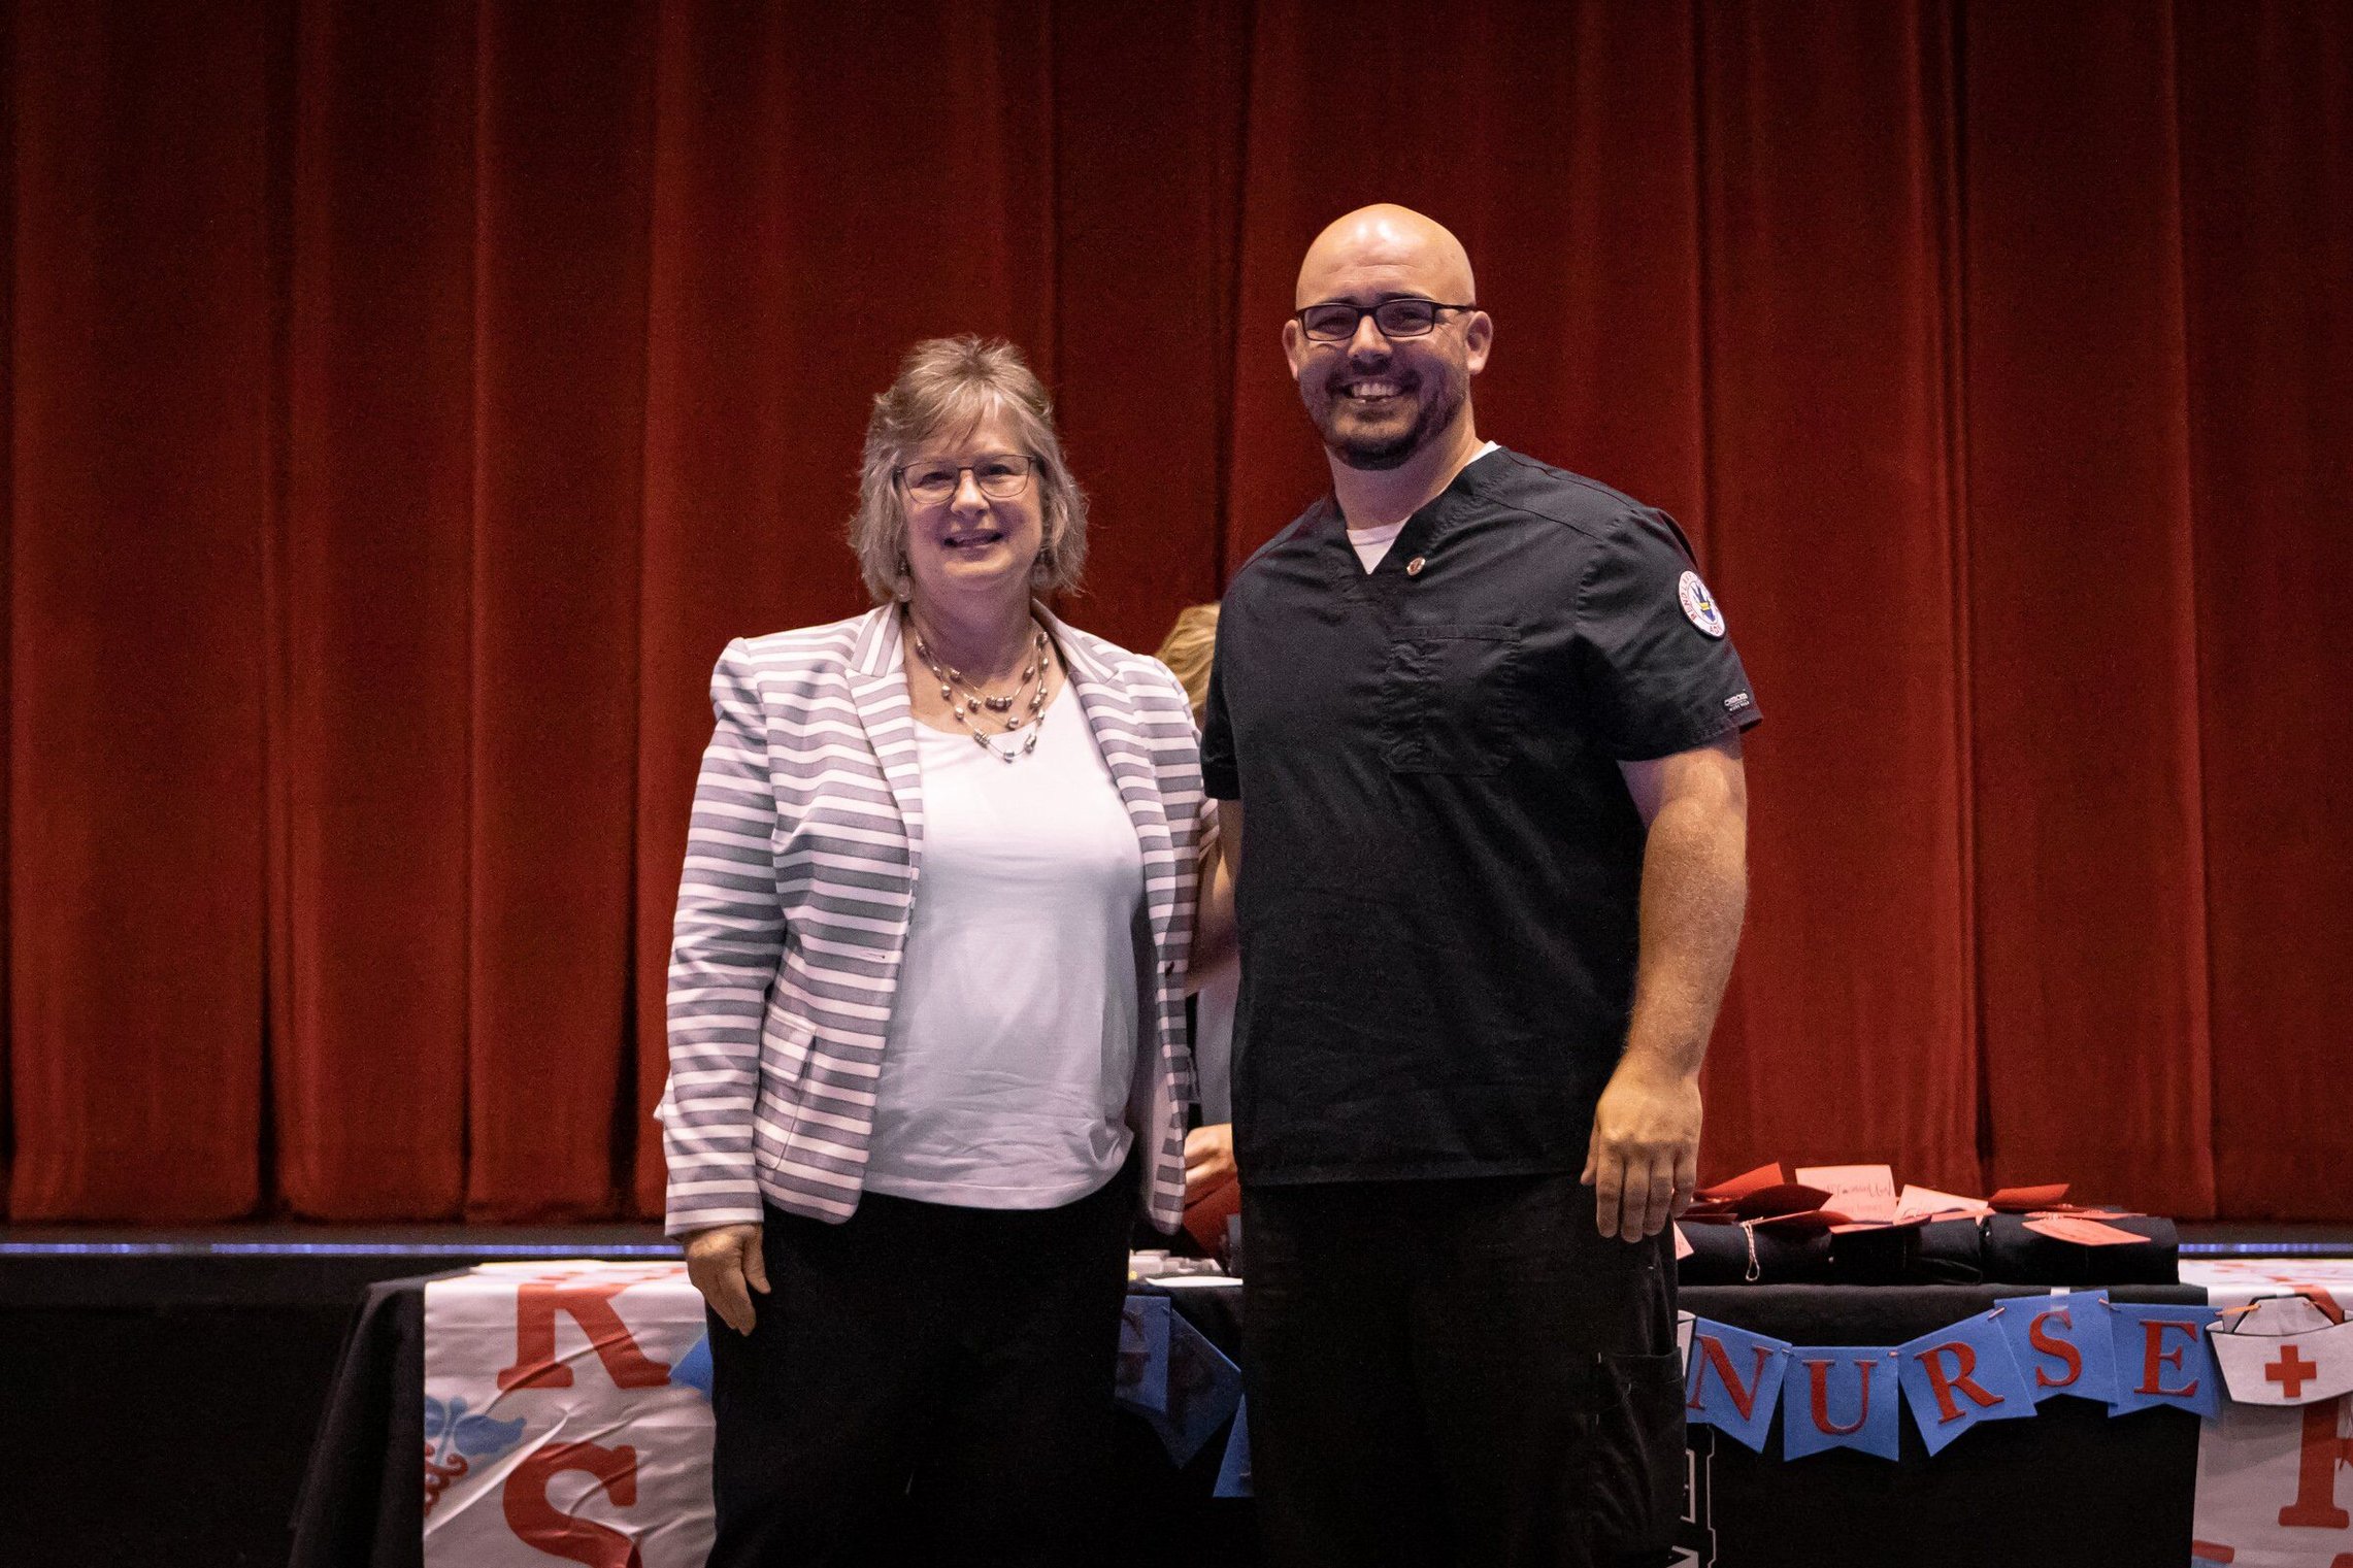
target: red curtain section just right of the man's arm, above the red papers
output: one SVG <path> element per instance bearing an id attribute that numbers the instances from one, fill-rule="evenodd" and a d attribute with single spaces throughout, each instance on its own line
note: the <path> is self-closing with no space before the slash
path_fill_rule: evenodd
<path id="1" fill-rule="evenodd" d="M 1767 710 L 1711 1152 L 1974 1190 L 1951 14 L 1701 42 L 1706 552 Z"/>

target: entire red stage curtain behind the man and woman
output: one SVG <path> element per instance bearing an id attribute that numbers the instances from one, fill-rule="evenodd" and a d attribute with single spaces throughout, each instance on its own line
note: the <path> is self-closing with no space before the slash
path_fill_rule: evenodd
<path id="1" fill-rule="evenodd" d="M 706 682 L 1007 334 L 1129 646 L 1322 487 L 1278 331 L 1468 242 L 1485 435 L 1769 712 L 1708 1173 L 2346 1218 L 2353 19 L 2320 2 L 24 5 L 7 1211 L 659 1211 Z"/>

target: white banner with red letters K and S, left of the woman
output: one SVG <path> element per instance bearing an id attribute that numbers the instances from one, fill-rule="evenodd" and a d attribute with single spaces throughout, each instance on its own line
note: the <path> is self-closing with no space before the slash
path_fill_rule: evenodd
<path id="1" fill-rule="evenodd" d="M 426 1568 L 701 1568 L 711 1347 L 680 1262 L 426 1284 Z"/>

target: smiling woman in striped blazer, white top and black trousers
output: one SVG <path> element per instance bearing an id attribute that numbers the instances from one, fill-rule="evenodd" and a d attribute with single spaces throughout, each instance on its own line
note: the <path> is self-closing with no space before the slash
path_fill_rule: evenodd
<path id="1" fill-rule="evenodd" d="M 708 1561 L 1085 1561 L 1129 1218 L 1184 1206 L 1193 719 L 1033 602 L 1085 501 L 1012 346 L 915 346 L 852 545 L 875 609 L 720 656 L 678 891 Z"/>

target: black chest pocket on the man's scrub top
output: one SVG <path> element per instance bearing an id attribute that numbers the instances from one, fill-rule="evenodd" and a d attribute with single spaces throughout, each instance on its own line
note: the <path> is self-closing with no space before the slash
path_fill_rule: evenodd
<path id="1" fill-rule="evenodd" d="M 1381 679 L 1381 757 L 1398 773 L 1499 773 L 1515 750 L 1515 625 L 1405 625 Z"/>

